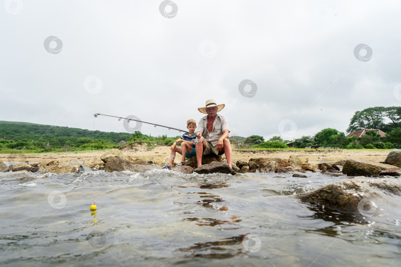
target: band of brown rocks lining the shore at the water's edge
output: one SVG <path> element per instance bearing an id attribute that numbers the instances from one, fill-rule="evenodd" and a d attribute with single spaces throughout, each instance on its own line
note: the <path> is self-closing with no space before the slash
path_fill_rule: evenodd
<path id="1" fill-rule="evenodd" d="M 106 172 L 131 171 L 140 172 L 152 169 L 161 169 L 165 162 L 153 162 L 150 157 L 139 156 L 133 158 L 125 155 L 121 150 L 111 149 L 104 152 L 98 160 L 83 160 L 72 158 L 69 162 L 60 160 L 43 161 L 35 164 L 28 162 L 10 164 L 8 167 L 0 162 L 0 172 L 40 172 L 41 174 L 88 172 L 94 170 L 105 170 Z M 197 168 L 196 158 L 188 159 L 185 166 L 173 168 L 173 171 L 186 174 L 196 172 L 199 174 L 210 173 L 307 173 L 321 172 L 332 175 L 344 174 L 348 176 L 400 176 L 401 174 L 401 150 L 393 149 L 384 162 L 371 160 L 343 159 L 336 162 L 311 163 L 308 157 L 297 157 L 290 155 L 288 159 L 278 157 L 254 157 L 246 160 L 233 162 L 233 169 L 229 168 L 226 159 L 221 156 L 204 156 L 202 166 Z M 300 174 L 297 174 L 300 175 Z"/>

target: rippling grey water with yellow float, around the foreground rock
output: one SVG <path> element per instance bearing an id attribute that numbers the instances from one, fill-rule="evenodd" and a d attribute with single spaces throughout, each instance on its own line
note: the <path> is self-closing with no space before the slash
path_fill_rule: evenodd
<path id="1" fill-rule="evenodd" d="M 401 266 L 401 192 L 349 214 L 296 195 L 372 178 L 307 175 L 0 174 L 0 265 Z"/>

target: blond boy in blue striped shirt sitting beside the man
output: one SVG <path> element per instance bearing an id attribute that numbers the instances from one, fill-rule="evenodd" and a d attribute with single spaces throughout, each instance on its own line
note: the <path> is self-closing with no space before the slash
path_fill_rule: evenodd
<path id="1" fill-rule="evenodd" d="M 191 158 L 197 155 L 194 143 L 197 138 L 197 135 L 195 134 L 196 128 L 197 123 L 195 120 L 191 119 L 187 121 L 187 129 L 191 134 L 184 133 L 180 138 L 174 141 L 174 144 L 171 146 L 170 163 L 168 165 L 163 165 L 162 169 L 170 169 L 170 166 L 174 163 L 175 152 L 182 155 L 182 160 L 177 164 L 177 166 L 183 166 L 185 164 L 185 157 Z M 179 142 L 182 142 L 181 148 L 177 147 Z"/>

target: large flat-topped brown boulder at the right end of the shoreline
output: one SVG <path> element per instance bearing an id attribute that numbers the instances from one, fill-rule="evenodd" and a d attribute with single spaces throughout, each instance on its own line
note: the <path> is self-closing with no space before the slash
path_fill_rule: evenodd
<path id="1" fill-rule="evenodd" d="M 348 159 L 344 163 L 343 174 L 348 176 L 379 177 L 380 172 L 388 169 L 394 169 L 394 166 L 371 160 Z"/>

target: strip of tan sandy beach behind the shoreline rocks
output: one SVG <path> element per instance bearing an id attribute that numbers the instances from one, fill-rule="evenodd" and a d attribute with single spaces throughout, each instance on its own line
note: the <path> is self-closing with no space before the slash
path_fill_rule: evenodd
<path id="1" fill-rule="evenodd" d="M 0 154 L 0 161 L 4 162 L 41 162 L 50 160 L 59 160 L 68 162 L 72 158 L 97 161 L 106 150 L 89 151 L 89 152 L 66 152 L 66 153 L 44 153 L 44 154 Z M 145 144 L 137 144 L 134 149 L 122 149 L 124 155 L 132 158 L 149 157 L 156 164 L 161 164 L 163 161 L 168 161 L 170 157 L 169 146 L 156 146 L 148 150 Z M 249 161 L 254 157 L 271 157 L 288 160 L 290 155 L 297 157 L 308 157 L 311 162 L 328 162 L 338 161 L 342 159 L 365 159 L 373 161 L 384 161 L 390 150 L 275 150 L 275 151 L 257 151 L 257 150 L 233 150 L 233 162 L 237 160 Z M 178 163 L 180 155 L 176 155 L 175 162 Z M 224 155 L 223 155 L 224 157 Z"/>

